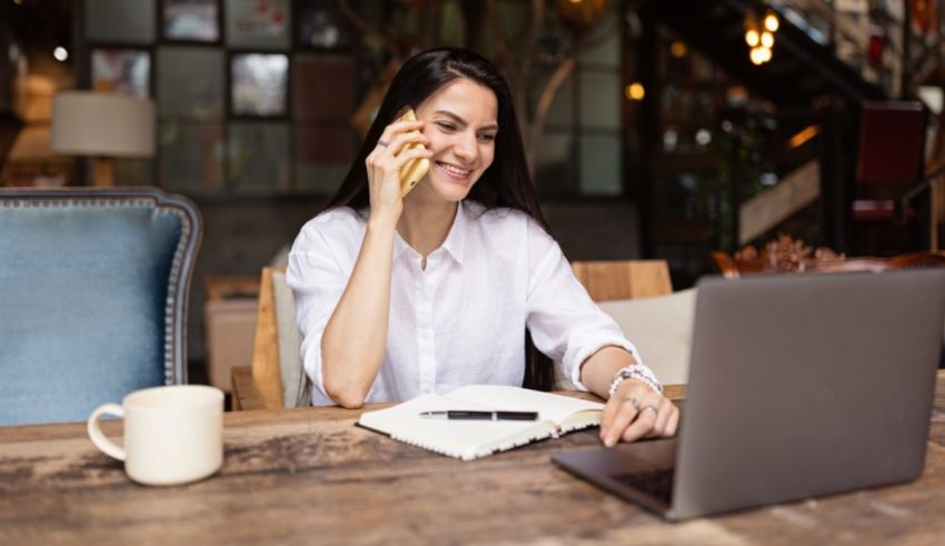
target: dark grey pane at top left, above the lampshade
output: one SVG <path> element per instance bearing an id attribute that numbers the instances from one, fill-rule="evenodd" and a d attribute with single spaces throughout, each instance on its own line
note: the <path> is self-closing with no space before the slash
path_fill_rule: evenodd
<path id="1" fill-rule="evenodd" d="M 151 43 L 155 41 L 155 0 L 86 0 L 89 41 Z"/>

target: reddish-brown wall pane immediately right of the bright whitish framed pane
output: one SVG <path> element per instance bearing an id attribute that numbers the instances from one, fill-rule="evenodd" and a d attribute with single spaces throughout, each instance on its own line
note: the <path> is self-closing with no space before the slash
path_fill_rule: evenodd
<path id="1" fill-rule="evenodd" d="M 355 108 L 355 70 L 348 59 L 315 54 L 296 57 L 294 97 L 302 121 L 347 122 Z"/>

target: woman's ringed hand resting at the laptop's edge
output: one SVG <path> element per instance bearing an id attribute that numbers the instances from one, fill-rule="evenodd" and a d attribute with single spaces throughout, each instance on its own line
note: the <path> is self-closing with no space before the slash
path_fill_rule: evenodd
<path id="1" fill-rule="evenodd" d="M 607 400 L 600 418 L 600 440 L 607 447 L 640 438 L 676 435 L 679 409 L 643 381 L 625 379 Z"/>

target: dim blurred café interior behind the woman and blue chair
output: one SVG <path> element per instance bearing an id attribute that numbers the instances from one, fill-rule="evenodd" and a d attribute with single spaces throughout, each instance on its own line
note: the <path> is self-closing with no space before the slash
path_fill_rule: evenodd
<path id="1" fill-rule="evenodd" d="M 435 46 L 474 49 L 506 75 L 543 209 L 571 260 L 665 259 L 679 289 L 714 272 L 713 250 L 778 234 L 852 256 L 935 249 L 942 9 L 0 0 L 0 183 L 157 186 L 197 203 L 198 381 L 223 374 L 215 358 L 248 365 L 260 268 L 324 208 L 399 66 Z M 100 123 L 54 127 L 67 90 L 151 101 L 153 121 L 123 130 L 153 145 L 67 146 L 122 121 L 106 109 Z"/>

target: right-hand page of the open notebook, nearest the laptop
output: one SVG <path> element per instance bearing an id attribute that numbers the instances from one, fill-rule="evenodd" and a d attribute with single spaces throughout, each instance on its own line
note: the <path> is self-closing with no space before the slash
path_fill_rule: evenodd
<path id="1" fill-rule="evenodd" d="M 538 411 L 540 420 L 550 420 L 558 425 L 573 414 L 604 410 L 604 404 L 598 401 L 504 385 L 468 385 L 446 396 L 469 404 L 488 405 L 493 409 Z M 599 420 L 598 416 L 597 420 L 589 425 L 595 425 Z"/>

